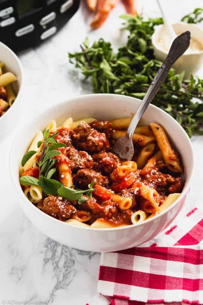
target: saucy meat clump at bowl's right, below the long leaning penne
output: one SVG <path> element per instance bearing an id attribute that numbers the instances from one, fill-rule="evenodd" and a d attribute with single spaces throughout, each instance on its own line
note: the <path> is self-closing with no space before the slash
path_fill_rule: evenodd
<path id="1" fill-rule="evenodd" d="M 182 178 L 163 174 L 158 168 L 143 168 L 140 171 L 140 177 L 144 183 L 149 185 L 151 188 L 155 188 L 159 193 L 173 193 L 173 190 L 175 190 L 175 192 L 181 192 L 183 189 Z"/>

